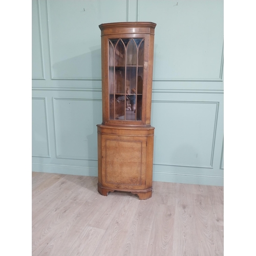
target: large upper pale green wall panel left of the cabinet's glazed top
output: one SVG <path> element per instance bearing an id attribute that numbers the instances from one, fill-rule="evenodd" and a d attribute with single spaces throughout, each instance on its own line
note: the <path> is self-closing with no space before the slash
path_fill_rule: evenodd
<path id="1" fill-rule="evenodd" d="M 48 17 L 52 78 L 100 79 L 98 25 L 123 21 L 126 1 L 49 0 Z"/>

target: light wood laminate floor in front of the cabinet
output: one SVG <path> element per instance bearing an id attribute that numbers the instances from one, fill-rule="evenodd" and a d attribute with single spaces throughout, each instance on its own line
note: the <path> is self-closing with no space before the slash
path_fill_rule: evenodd
<path id="1" fill-rule="evenodd" d="M 32 173 L 32 256 L 223 255 L 223 187 L 153 182 L 139 200 L 97 180 Z"/>

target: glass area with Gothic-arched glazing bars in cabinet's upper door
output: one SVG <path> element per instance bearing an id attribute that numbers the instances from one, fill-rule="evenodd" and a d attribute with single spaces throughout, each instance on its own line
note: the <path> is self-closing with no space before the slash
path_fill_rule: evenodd
<path id="1" fill-rule="evenodd" d="M 108 38 L 109 120 L 143 121 L 145 37 Z M 145 92 L 146 93 L 146 92 Z"/>

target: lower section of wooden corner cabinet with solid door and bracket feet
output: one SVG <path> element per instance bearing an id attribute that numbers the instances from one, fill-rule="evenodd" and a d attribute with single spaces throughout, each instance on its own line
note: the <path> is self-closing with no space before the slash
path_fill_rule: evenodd
<path id="1" fill-rule="evenodd" d="M 98 126 L 98 191 L 152 196 L 154 127 Z"/>

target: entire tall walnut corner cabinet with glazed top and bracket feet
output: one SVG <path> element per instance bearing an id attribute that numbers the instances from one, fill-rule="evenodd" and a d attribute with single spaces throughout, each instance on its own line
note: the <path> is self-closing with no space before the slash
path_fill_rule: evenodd
<path id="1" fill-rule="evenodd" d="M 98 191 L 152 196 L 151 126 L 154 34 L 152 22 L 99 25 L 102 124 L 98 129 Z"/>

